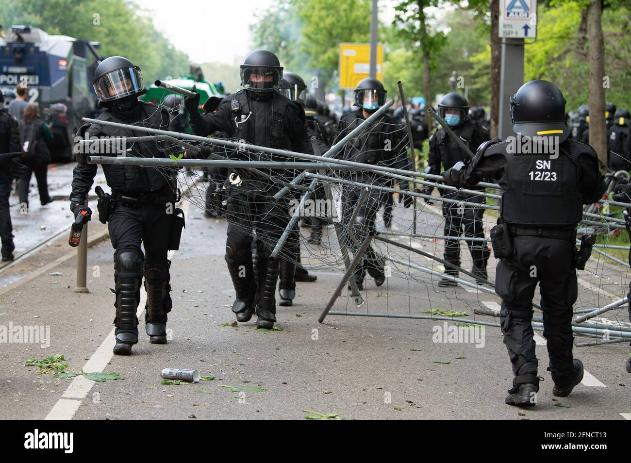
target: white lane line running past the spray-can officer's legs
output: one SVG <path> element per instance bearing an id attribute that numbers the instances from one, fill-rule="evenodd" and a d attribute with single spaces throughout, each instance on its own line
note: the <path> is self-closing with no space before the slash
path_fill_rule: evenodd
<path id="1" fill-rule="evenodd" d="M 188 201 L 185 201 L 184 204 L 182 204 L 184 213 L 188 211 L 189 204 L 190 203 Z M 170 250 L 167 254 L 167 259 L 173 259 L 174 255 L 175 251 Z M 146 300 L 147 293 L 144 290 L 143 285 L 140 290 L 140 303 L 138 304 L 138 310 L 136 310 L 136 316 L 139 319 L 144 313 L 144 303 Z M 85 365 L 83 365 L 81 370 L 87 373 L 102 373 L 103 370 L 105 370 L 105 367 L 114 356 L 114 352 L 112 351 L 114 344 L 116 343 L 114 331 L 115 329 L 112 329 L 107 337 L 103 339 L 103 343 L 98 346 L 98 349 L 90 356 L 90 359 Z M 83 377 L 83 375 L 74 377 L 73 381 L 61 396 L 62 398 L 56 402 L 45 419 L 73 419 L 74 414 L 81 406 L 81 402 L 83 402 L 83 399 L 88 396 L 88 392 L 90 392 L 94 384 L 95 381 L 88 380 Z"/>

